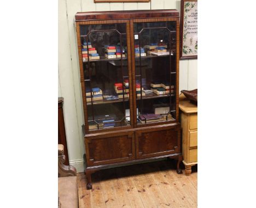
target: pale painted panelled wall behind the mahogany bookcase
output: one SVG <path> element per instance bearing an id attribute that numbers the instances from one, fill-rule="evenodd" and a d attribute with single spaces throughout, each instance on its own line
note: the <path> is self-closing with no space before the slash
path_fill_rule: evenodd
<path id="1" fill-rule="evenodd" d="M 83 172 L 84 142 L 82 94 L 74 28 L 74 15 L 78 11 L 178 9 L 179 0 L 151 0 L 148 3 L 94 3 L 94 0 L 59 0 L 59 96 L 64 97 L 69 162 Z M 197 88 L 197 59 L 179 63 L 179 90 Z"/>

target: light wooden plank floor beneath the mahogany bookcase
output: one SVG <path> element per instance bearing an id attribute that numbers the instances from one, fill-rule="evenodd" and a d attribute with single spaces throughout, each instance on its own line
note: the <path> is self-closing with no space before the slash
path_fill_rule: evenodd
<path id="1" fill-rule="evenodd" d="M 197 207 L 197 170 L 178 175 L 171 160 L 100 170 L 91 190 L 79 173 L 78 185 L 80 208 Z"/>

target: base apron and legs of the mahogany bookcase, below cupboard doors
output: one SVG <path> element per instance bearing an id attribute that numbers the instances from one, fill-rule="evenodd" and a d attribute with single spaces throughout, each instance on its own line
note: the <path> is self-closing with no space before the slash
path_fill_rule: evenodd
<path id="1" fill-rule="evenodd" d="M 172 154 L 172 155 L 164 155 L 164 156 L 159 156 L 159 157 L 152 157 L 152 158 L 147 158 L 147 159 L 142 159 L 142 160 L 133 160 L 133 161 L 128 161 L 128 162 L 120 162 L 120 163 L 115 163 L 115 164 L 105 164 L 105 165 L 102 165 L 102 166 L 94 166 L 94 167 L 86 167 L 86 154 L 84 154 L 84 165 L 85 165 L 84 173 L 85 173 L 86 179 L 87 179 L 86 189 L 92 189 L 91 174 L 97 172 L 98 170 L 108 169 L 108 168 L 118 168 L 118 167 L 121 167 L 123 165 L 132 166 L 133 164 L 137 164 L 139 162 L 145 162 L 145 161 L 152 162 L 153 160 L 156 160 L 156 159 L 159 159 L 159 158 L 165 158 L 165 157 L 177 160 L 176 172 L 177 172 L 177 174 L 182 174 L 182 169 L 180 168 L 180 164 L 183 160 L 183 157 L 182 157 L 181 153 Z"/>

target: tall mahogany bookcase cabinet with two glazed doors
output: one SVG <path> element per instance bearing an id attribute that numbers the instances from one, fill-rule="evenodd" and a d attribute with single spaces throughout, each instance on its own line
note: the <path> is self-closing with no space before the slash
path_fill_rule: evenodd
<path id="1" fill-rule="evenodd" d="M 75 15 L 85 174 L 163 157 L 182 173 L 177 10 Z"/>

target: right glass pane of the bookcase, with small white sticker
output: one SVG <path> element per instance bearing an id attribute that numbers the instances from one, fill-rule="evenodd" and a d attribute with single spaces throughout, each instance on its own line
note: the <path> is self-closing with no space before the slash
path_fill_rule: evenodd
<path id="1" fill-rule="evenodd" d="M 134 23 L 137 124 L 176 118 L 176 22 Z"/>

